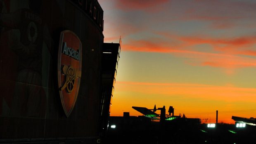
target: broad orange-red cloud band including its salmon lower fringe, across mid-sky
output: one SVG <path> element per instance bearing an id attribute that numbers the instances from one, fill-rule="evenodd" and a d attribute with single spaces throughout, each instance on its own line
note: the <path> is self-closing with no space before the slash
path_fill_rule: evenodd
<path id="1" fill-rule="evenodd" d="M 158 52 L 169 53 L 175 57 L 186 58 L 186 64 L 192 66 L 211 66 L 223 68 L 227 74 L 233 74 L 237 68 L 256 67 L 256 51 L 246 49 L 256 44 L 254 36 L 240 38 L 200 38 L 187 36 L 171 37 L 179 42 L 164 41 L 164 40 L 131 40 L 129 44 L 123 44 L 122 50 L 136 52 Z M 198 45 L 212 45 L 213 50 L 209 52 L 201 52 L 191 47 Z"/>

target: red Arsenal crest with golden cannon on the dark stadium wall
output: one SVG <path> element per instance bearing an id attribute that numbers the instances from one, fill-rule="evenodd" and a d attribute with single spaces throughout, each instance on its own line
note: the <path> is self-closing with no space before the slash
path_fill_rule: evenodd
<path id="1" fill-rule="evenodd" d="M 82 43 L 72 31 L 62 31 L 59 39 L 59 95 L 66 116 L 76 104 L 82 70 Z"/>

